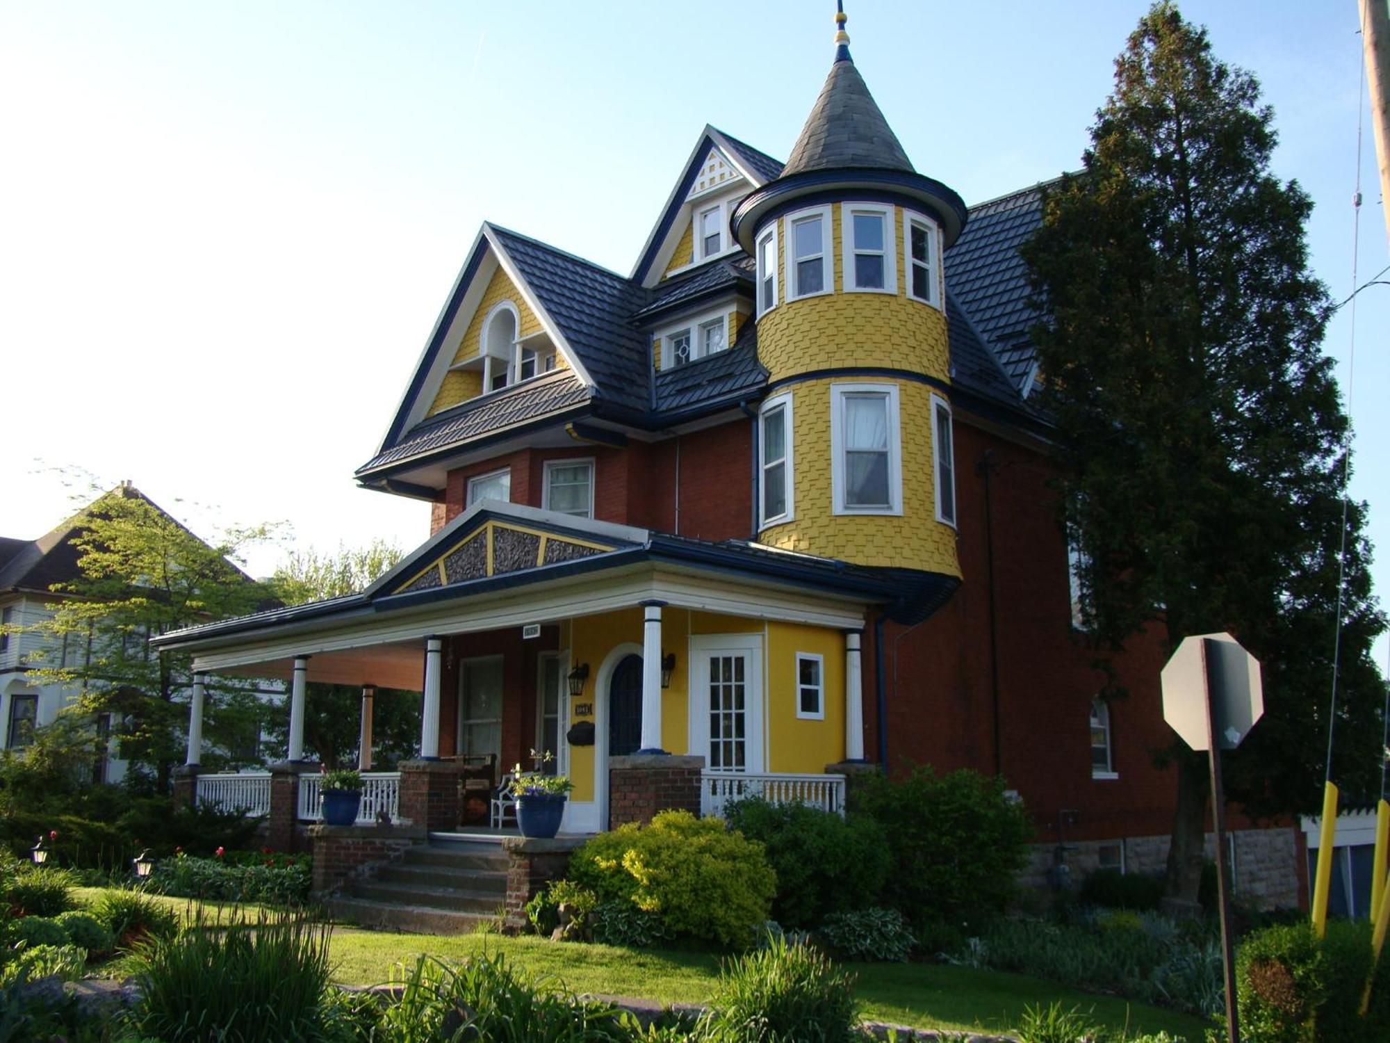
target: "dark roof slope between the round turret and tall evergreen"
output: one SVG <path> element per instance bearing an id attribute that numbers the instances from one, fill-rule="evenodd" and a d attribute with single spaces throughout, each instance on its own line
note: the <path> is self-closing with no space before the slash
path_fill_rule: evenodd
<path id="1" fill-rule="evenodd" d="M 1042 188 L 1034 185 L 970 209 L 970 220 L 947 250 L 947 289 L 1004 366 L 1026 391 L 1033 370 L 1029 275 L 1019 246 L 1042 221 Z"/>

